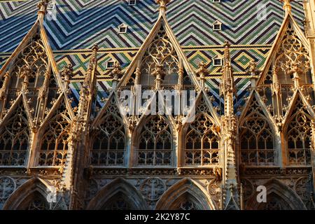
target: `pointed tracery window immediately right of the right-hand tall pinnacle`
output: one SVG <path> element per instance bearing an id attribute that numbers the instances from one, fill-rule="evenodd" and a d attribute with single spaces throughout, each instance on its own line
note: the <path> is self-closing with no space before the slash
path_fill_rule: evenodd
<path id="1" fill-rule="evenodd" d="M 276 165 L 279 153 L 276 130 L 270 114 L 262 106 L 260 96 L 251 93 L 239 121 L 239 155 L 241 163 L 251 166 Z"/>

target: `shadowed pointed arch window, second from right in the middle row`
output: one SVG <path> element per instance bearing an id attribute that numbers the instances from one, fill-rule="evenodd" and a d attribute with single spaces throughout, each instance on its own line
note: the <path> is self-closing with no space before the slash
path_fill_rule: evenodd
<path id="1" fill-rule="evenodd" d="M 276 165 L 273 130 L 261 113 L 260 105 L 254 97 L 239 132 L 241 163 L 244 165 Z"/>

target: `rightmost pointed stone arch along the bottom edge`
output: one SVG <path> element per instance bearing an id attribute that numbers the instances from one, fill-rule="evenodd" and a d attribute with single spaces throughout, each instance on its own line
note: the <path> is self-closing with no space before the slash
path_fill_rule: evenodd
<path id="1" fill-rule="evenodd" d="M 263 186 L 267 188 L 267 203 L 258 203 L 256 193 L 246 203 L 246 210 L 306 210 L 300 197 L 281 181 L 270 179 Z"/>

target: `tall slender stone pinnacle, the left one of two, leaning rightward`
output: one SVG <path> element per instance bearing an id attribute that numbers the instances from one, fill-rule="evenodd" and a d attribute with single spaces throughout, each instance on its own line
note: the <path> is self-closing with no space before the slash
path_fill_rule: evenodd
<path id="1" fill-rule="evenodd" d="M 82 175 L 79 171 L 79 161 L 84 159 L 84 140 L 90 126 L 90 115 L 95 96 L 95 87 L 97 81 L 97 45 L 92 48 L 89 69 L 85 76 L 78 104 L 78 113 L 73 119 L 71 133 L 68 139 L 68 151 L 66 156 L 66 165 L 62 171 L 62 185 L 66 190 L 70 190 L 69 209 L 82 207 L 82 199 L 78 197 L 78 179 Z M 82 140 L 83 139 L 83 140 Z M 81 141 L 82 140 L 82 141 Z"/>

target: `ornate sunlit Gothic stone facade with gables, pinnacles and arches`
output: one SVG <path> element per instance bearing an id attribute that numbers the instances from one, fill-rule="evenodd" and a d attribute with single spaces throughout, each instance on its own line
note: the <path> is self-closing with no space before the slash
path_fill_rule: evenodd
<path id="1" fill-rule="evenodd" d="M 38 3 L 36 22 L 0 69 L 0 209 L 315 209 L 314 1 L 303 3 L 304 30 L 282 1 L 265 64 L 246 66 L 241 104 L 237 45 L 218 45 L 214 94 L 214 62 L 193 68 L 169 25 L 169 1 L 156 1 L 158 18 L 130 64 L 107 64 L 106 97 L 104 49 L 89 50 L 77 104 L 76 69 L 59 68 L 44 26 L 49 1 Z M 153 97 L 139 106 L 144 90 Z M 194 91 L 195 110 L 148 113 L 162 90 Z M 267 202 L 259 203 L 261 186 Z"/>

